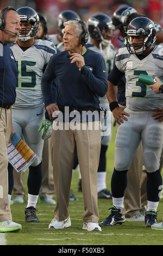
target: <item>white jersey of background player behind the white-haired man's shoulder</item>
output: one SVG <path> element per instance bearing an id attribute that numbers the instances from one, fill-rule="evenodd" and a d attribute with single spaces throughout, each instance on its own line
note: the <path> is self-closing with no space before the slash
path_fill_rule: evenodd
<path id="1" fill-rule="evenodd" d="M 105 66 L 106 66 L 106 70 L 103 70 L 103 72 L 106 71 L 107 76 L 108 76 L 108 74 L 110 73 L 110 71 L 112 69 L 113 62 L 114 62 L 114 57 L 115 57 L 115 54 L 116 54 L 114 45 L 110 44 L 110 45 L 104 47 L 104 49 L 102 51 L 97 46 L 95 46 L 91 43 L 86 44 L 86 48 L 89 48 L 92 51 L 96 51 L 96 52 L 101 53 L 101 55 L 104 58 Z M 99 101 L 100 101 L 101 104 L 109 103 L 106 95 L 104 97 L 99 97 Z"/>

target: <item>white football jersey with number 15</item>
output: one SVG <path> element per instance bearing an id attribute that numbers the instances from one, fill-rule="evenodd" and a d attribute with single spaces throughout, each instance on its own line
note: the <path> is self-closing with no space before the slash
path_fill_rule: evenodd
<path id="1" fill-rule="evenodd" d="M 35 40 L 34 45 L 23 51 L 17 43 L 10 45 L 18 68 L 16 102 L 12 108 L 36 108 L 43 103 L 41 78 L 46 64 L 57 52 L 51 41 Z"/>

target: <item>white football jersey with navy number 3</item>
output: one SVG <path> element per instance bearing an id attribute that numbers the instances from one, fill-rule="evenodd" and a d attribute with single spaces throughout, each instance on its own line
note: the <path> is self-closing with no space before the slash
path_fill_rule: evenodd
<path id="1" fill-rule="evenodd" d="M 126 76 L 126 105 L 129 109 L 140 111 L 163 108 L 163 94 L 154 93 L 152 88 L 138 81 L 140 74 L 163 79 L 163 46 L 155 46 L 141 60 L 135 54 L 130 54 L 127 47 L 120 48 L 115 64 Z"/>

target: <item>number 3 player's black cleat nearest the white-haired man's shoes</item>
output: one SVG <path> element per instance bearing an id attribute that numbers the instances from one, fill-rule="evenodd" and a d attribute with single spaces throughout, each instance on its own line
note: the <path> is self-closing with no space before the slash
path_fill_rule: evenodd
<path id="1" fill-rule="evenodd" d="M 125 222 L 124 209 L 117 209 L 114 205 L 110 208 L 111 214 L 99 225 L 101 227 L 114 226 Z M 109 209 L 109 210 L 110 210 Z"/>

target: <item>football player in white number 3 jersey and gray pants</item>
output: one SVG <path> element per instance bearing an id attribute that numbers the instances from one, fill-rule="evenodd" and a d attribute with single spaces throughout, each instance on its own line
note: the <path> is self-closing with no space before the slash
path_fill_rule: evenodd
<path id="1" fill-rule="evenodd" d="M 115 168 L 111 178 L 113 206 L 111 214 L 101 225 L 112 226 L 125 222 L 123 200 L 127 187 L 127 171 L 136 148 L 142 141 L 143 163 L 147 170 L 146 227 L 156 223 L 159 192 L 162 187 L 160 156 L 163 143 L 163 122 L 153 119 L 153 110 L 163 107 L 162 94 L 141 84 L 140 74 L 158 76 L 162 79 L 162 46 L 156 40 L 154 22 L 147 17 L 136 17 L 127 28 L 127 47 L 118 50 L 115 65 L 108 76 L 110 110 L 119 124 L 116 134 Z M 150 63 L 150 65 L 149 65 Z M 126 109 L 116 102 L 114 87 L 126 76 Z"/>

